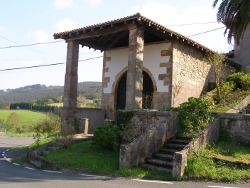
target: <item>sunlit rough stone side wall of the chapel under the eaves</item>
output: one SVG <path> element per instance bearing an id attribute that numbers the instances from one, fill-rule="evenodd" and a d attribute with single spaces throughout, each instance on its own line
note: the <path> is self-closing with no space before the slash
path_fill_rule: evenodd
<path id="1" fill-rule="evenodd" d="M 190 97 L 199 97 L 207 90 L 210 65 L 205 53 L 179 40 L 173 42 L 172 106 L 186 102 Z"/>

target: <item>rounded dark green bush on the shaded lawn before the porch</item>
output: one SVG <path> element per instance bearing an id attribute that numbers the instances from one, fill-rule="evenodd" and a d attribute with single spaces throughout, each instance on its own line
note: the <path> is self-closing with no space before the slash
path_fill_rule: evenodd
<path id="1" fill-rule="evenodd" d="M 118 150 L 120 146 L 120 131 L 117 126 L 104 124 L 94 129 L 93 143 L 109 150 Z"/>

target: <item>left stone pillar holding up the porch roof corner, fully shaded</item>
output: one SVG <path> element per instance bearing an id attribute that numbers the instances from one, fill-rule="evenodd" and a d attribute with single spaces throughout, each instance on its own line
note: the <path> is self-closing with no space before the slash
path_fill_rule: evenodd
<path id="1" fill-rule="evenodd" d="M 62 133 L 74 130 L 74 117 L 77 112 L 77 84 L 78 84 L 78 41 L 67 41 L 67 62 L 64 82 L 64 97 L 62 108 Z"/>

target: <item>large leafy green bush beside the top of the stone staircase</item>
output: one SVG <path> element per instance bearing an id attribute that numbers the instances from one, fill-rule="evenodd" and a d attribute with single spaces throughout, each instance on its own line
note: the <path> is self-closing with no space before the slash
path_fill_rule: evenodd
<path id="1" fill-rule="evenodd" d="M 213 119 L 211 115 L 213 102 L 205 98 L 191 97 L 188 102 L 171 110 L 179 113 L 180 131 L 184 135 L 193 135 L 203 130 Z"/>

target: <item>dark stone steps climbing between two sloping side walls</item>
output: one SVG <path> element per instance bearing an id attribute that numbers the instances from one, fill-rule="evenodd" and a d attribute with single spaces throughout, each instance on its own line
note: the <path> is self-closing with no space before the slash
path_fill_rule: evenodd
<path id="1" fill-rule="evenodd" d="M 172 173 L 174 153 L 181 151 L 191 141 L 190 138 L 175 137 L 168 140 L 152 158 L 147 158 L 142 167 Z"/>

